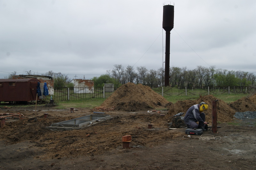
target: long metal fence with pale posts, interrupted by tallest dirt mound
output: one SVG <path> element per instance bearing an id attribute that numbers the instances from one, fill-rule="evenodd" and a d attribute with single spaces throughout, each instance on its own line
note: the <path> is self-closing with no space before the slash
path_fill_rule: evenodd
<path id="1" fill-rule="evenodd" d="M 52 87 L 54 94 L 50 94 L 46 99 L 52 98 L 55 101 L 82 100 L 89 98 L 108 98 L 118 87 L 86 87 L 67 88 Z M 251 86 L 210 86 L 210 87 L 157 87 L 152 88 L 156 93 L 167 96 L 204 96 L 204 95 L 229 95 L 229 94 L 254 94 L 256 87 Z"/>

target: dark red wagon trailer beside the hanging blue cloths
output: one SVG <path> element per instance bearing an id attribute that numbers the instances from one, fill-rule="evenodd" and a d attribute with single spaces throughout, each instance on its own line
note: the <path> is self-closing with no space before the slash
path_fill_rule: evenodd
<path id="1" fill-rule="evenodd" d="M 36 100 L 37 82 L 40 81 L 37 79 L 0 79 L 0 102 Z"/>

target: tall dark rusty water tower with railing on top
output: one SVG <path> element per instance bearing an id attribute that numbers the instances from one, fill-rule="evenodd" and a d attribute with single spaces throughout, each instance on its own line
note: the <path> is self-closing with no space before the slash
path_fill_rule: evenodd
<path id="1" fill-rule="evenodd" d="M 170 32 L 173 28 L 174 21 L 174 3 L 164 3 L 163 10 L 163 28 L 165 30 L 165 76 L 164 86 L 169 86 L 170 77 Z"/>

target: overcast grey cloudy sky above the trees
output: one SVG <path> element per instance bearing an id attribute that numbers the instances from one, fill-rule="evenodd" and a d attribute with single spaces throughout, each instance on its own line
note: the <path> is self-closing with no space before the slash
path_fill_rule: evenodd
<path id="1" fill-rule="evenodd" d="M 0 78 L 162 68 L 162 0 L 0 0 Z M 256 74 L 255 0 L 175 0 L 170 66 Z"/>

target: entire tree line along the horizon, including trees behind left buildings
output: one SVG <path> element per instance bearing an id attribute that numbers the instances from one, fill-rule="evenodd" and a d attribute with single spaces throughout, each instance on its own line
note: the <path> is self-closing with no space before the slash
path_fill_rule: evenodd
<path id="1" fill-rule="evenodd" d="M 106 83 L 120 87 L 128 82 L 149 87 L 164 86 L 164 68 L 148 70 L 145 66 L 138 66 L 136 69 L 129 65 L 124 68 L 122 64 L 113 66 L 114 68 L 107 70 L 106 74 L 90 79 L 94 81 L 94 87 L 103 87 Z M 14 71 L 8 79 L 12 79 L 15 74 Z M 74 87 L 74 84 L 70 83 L 68 75 L 60 72 L 48 71 L 42 75 L 54 77 L 54 86 L 56 87 Z M 172 66 L 169 75 L 169 86 L 171 87 L 254 86 L 256 81 L 256 76 L 253 73 L 215 69 L 215 66 L 196 66 L 193 70 L 188 70 L 186 66 L 182 68 Z"/>

